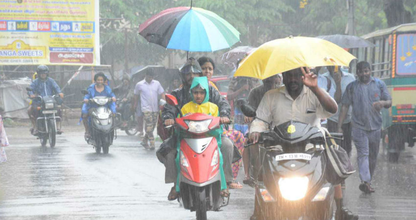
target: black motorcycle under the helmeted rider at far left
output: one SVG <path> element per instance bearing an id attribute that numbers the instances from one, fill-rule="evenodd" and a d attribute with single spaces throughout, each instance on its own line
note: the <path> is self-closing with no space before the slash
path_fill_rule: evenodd
<path id="1" fill-rule="evenodd" d="M 26 88 L 27 91 L 32 91 L 31 88 Z M 57 116 L 58 109 L 61 108 L 56 101 L 58 95 L 47 95 L 47 96 L 36 96 L 32 99 L 33 102 L 41 103 L 41 106 L 37 107 L 40 111 L 39 116 L 36 118 L 36 129 L 37 133 L 34 134 L 38 136 L 41 141 L 42 146 L 46 146 L 46 141 L 49 140 L 49 145 L 51 148 L 55 147 L 56 143 L 56 134 L 61 134 L 57 132 L 56 121 L 61 121 L 61 117 Z"/>

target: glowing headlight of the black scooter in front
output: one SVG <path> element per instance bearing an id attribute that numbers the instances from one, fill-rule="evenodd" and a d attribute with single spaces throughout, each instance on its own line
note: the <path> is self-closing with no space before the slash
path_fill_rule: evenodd
<path id="1" fill-rule="evenodd" d="M 291 201 L 305 197 L 308 191 L 309 179 L 302 177 L 281 177 L 278 181 L 280 194 L 283 198 Z"/>

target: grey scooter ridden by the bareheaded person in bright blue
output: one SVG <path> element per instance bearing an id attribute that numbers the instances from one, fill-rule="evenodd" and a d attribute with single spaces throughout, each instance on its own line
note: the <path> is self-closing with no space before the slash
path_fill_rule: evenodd
<path id="1" fill-rule="evenodd" d="M 86 95 L 88 91 L 82 90 L 82 94 Z M 106 107 L 106 104 L 113 102 L 113 99 L 107 96 L 95 96 L 88 101 L 98 107 L 91 108 L 88 112 L 91 137 L 86 138 L 86 141 L 94 146 L 96 153 L 101 153 L 102 148 L 103 154 L 108 154 L 116 134 L 116 127 L 113 112 Z"/>

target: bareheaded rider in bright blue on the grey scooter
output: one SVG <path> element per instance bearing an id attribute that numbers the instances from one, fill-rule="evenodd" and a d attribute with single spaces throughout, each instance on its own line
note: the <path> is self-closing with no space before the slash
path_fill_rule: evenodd
<path id="1" fill-rule="evenodd" d="M 90 104 L 89 99 L 95 97 L 95 96 L 107 96 L 113 98 L 113 102 L 107 103 L 108 108 L 110 108 L 113 111 L 113 116 L 116 113 L 116 95 L 114 95 L 111 88 L 104 84 L 107 77 L 104 75 L 104 73 L 99 72 L 94 75 L 94 84 L 92 84 L 90 87 L 87 88 L 88 94 L 84 96 L 84 105 L 82 106 L 82 121 L 85 128 L 85 138 L 90 138 L 90 129 L 88 124 L 88 112 L 91 108 L 95 108 L 95 104 Z"/>

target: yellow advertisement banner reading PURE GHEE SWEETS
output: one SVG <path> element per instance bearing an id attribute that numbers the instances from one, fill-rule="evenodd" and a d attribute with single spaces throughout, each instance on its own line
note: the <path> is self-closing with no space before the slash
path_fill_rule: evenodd
<path id="1" fill-rule="evenodd" d="M 0 65 L 100 65 L 99 0 L 0 0 Z"/>

